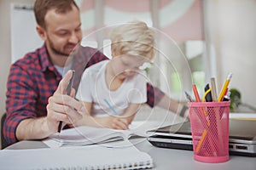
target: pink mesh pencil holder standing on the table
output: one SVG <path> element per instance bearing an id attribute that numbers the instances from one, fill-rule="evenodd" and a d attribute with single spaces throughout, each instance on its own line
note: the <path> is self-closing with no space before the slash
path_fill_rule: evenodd
<path id="1" fill-rule="evenodd" d="M 229 160 L 230 101 L 190 102 L 189 119 L 196 161 Z"/>

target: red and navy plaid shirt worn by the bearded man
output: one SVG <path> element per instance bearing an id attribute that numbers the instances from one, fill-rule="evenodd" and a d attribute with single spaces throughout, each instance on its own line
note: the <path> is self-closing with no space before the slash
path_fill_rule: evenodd
<path id="1" fill-rule="evenodd" d="M 73 88 L 79 87 L 84 69 L 104 59 L 108 58 L 95 48 L 79 47 L 75 50 L 72 68 L 76 74 Z M 9 144 L 18 141 L 15 131 L 22 120 L 47 115 L 48 99 L 55 93 L 61 78 L 60 73 L 49 61 L 45 44 L 11 65 L 6 93 L 7 117 L 3 126 L 3 135 Z M 147 103 L 153 107 L 164 94 L 150 84 L 147 84 L 147 89 Z"/>

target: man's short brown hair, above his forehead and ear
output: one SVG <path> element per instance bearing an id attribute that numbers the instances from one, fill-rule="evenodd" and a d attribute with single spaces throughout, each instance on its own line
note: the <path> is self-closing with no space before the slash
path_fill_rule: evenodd
<path id="1" fill-rule="evenodd" d="M 44 17 L 50 9 L 55 9 L 56 13 L 65 14 L 79 7 L 73 0 L 36 0 L 34 3 L 34 14 L 39 26 L 46 28 Z"/>

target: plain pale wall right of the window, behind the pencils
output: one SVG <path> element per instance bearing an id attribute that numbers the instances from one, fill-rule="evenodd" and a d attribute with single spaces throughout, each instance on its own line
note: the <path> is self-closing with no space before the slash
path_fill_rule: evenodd
<path id="1" fill-rule="evenodd" d="M 217 77 L 218 91 L 229 72 L 230 88 L 241 92 L 241 101 L 256 106 L 256 1 L 205 1 L 208 44 L 216 57 L 212 75 Z"/>

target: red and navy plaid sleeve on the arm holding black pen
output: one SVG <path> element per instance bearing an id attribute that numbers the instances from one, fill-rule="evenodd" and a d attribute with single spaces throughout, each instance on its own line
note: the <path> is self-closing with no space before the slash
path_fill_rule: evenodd
<path id="1" fill-rule="evenodd" d="M 18 124 L 27 118 L 36 117 L 35 99 L 36 87 L 26 69 L 20 65 L 12 65 L 6 93 L 6 119 L 3 125 L 3 135 L 9 144 L 18 141 L 16 128 Z"/>

